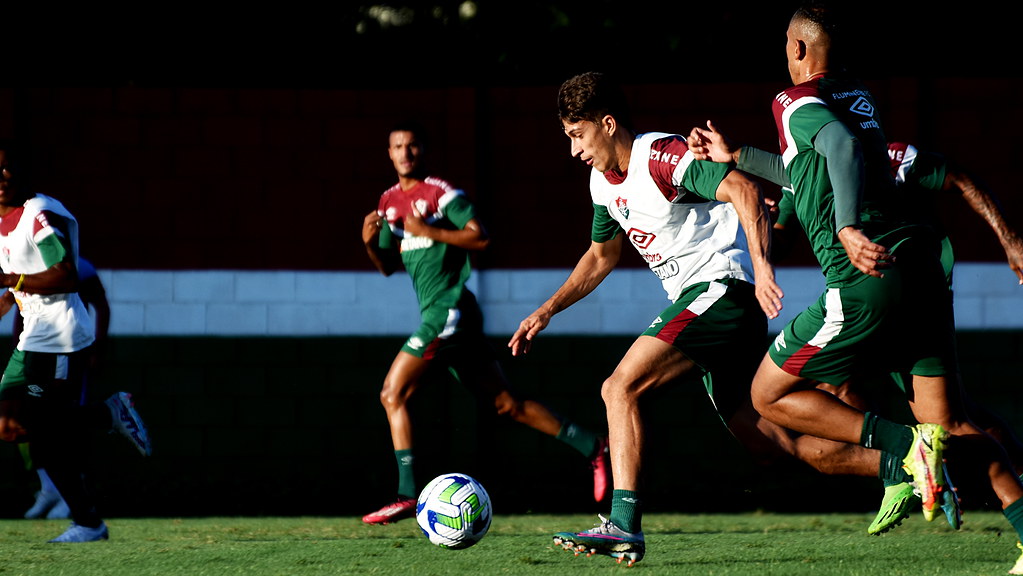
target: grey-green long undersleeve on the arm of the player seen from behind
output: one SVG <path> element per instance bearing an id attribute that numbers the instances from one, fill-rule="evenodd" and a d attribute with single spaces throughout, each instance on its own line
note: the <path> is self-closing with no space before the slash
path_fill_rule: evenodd
<path id="1" fill-rule="evenodd" d="M 829 122 L 813 138 L 813 149 L 828 159 L 828 176 L 835 194 L 835 229 L 859 227 L 859 205 L 865 185 L 859 140 L 841 122 Z"/>

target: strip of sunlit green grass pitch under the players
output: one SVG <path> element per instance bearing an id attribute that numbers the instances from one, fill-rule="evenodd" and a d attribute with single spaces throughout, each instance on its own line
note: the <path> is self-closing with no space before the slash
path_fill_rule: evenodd
<path id="1" fill-rule="evenodd" d="M 575 557 L 550 534 L 592 526 L 593 516 L 496 516 L 476 546 L 430 544 L 414 521 L 366 526 L 357 518 L 109 519 L 112 539 L 49 544 L 65 522 L 0 521 L 0 576 L 262 576 L 477 574 L 1004 575 L 1016 534 L 993 512 L 963 529 L 920 514 L 868 536 L 869 515 L 661 515 L 643 519 L 648 556 L 633 567 Z M 622 572 L 627 571 L 627 572 Z"/>

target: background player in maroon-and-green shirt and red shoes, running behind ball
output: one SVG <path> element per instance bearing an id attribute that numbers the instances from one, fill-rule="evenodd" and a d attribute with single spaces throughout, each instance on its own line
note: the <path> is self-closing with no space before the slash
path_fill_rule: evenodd
<path id="1" fill-rule="evenodd" d="M 408 402 L 428 368 L 437 367 L 446 367 L 458 382 L 489 399 L 498 414 L 579 451 L 593 471 L 593 498 L 604 500 L 611 485 L 607 439 L 522 397 L 497 362 L 483 333 L 483 313 L 465 286 L 472 272 L 470 252 L 485 249 L 489 237 L 465 194 L 428 176 L 424 138 L 422 129 L 413 124 L 391 130 L 388 153 L 398 183 L 381 195 L 362 227 L 366 253 L 381 273 L 389 276 L 404 265 L 421 322 L 395 357 L 381 391 L 398 463 L 397 498 L 362 520 L 389 524 L 415 515 L 418 489 Z"/>

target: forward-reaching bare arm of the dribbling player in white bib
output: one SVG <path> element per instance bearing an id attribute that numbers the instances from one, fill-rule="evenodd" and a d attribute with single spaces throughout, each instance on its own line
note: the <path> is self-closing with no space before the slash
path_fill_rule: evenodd
<path id="1" fill-rule="evenodd" d="M 519 329 L 508 341 L 513 356 L 528 353 L 533 338 L 547 327 L 554 314 L 585 298 L 608 277 L 622 256 L 622 236 L 618 234 L 606 242 L 590 242 L 589 250 L 582 255 L 558 292 L 519 323 Z"/>

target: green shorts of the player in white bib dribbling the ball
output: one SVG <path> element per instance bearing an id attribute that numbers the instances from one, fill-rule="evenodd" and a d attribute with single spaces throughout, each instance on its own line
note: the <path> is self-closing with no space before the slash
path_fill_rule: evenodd
<path id="1" fill-rule="evenodd" d="M 642 334 L 696 362 L 718 415 L 727 423 L 750 399 L 753 374 L 766 347 L 767 316 L 753 284 L 736 279 L 700 282 L 683 290 Z"/>

